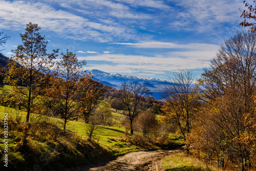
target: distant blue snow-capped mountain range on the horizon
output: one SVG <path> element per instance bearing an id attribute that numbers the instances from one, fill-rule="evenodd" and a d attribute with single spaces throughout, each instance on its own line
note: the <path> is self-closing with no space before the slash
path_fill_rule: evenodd
<path id="1" fill-rule="evenodd" d="M 106 73 L 99 70 L 88 70 L 87 72 L 90 72 L 95 80 L 101 81 L 103 84 L 116 89 L 120 89 L 122 83 L 124 82 L 138 82 L 140 84 L 144 84 L 150 88 L 151 92 L 153 92 L 153 96 L 154 94 L 157 95 L 157 92 L 160 92 L 164 85 L 169 83 L 168 81 L 162 79 L 121 75 L 118 73 Z M 159 99 L 158 97 L 156 98 Z"/>

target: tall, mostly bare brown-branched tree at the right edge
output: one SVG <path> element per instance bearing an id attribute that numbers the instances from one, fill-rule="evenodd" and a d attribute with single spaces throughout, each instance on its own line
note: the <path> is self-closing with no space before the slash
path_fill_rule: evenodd
<path id="1" fill-rule="evenodd" d="M 215 124 L 225 132 L 229 142 L 229 155 L 237 158 L 241 170 L 249 169 L 250 157 L 239 139 L 248 128 L 242 118 L 254 118 L 255 104 L 251 98 L 256 86 L 256 34 L 238 32 L 221 45 L 210 68 L 202 74 L 200 87 L 206 102 L 218 111 Z M 218 116 L 218 117 L 217 117 Z"/>

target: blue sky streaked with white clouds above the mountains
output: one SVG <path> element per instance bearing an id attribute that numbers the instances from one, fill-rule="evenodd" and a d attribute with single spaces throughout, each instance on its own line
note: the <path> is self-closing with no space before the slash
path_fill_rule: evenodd
<path id="1" fill-rule="evenodd" d="M 68 49 L 85 70 L 166 80 L 181 69 L 200 78 L 221 42 L 248 30 L 239 9 L 243 0 L 0 0 L 0 31 L 11 36 L 2 53 L 11 56 L 32 22 L 49 52 Z"/>

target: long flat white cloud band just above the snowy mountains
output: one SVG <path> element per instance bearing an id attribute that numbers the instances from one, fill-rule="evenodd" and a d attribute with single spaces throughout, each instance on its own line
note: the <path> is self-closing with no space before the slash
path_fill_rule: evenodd
<path id="1" fill-rule="evenodd" d="M 165 47 L 165 44 L 163 45 Z M 182 49 L 180 51 L 168 52 L 165 56 L 100 54 L 88 56 L 86 60 L 110 63 L 110 65 L 90 65 L 92 66 L 90 69 L 98 69 L 105 72 L 163 74 L 164 71 L 177 71 L 177 67 L 185 70 L 209 67 L 209 60 L 215 57 L 219 48 L 217 45 L 210 44 L 170 44 L 170 47 L 177 49 L 181 47 Z M 183 48 L 186 50 L 184 51 Z M 83 58 L 79 57 L 79 59 Z"/>

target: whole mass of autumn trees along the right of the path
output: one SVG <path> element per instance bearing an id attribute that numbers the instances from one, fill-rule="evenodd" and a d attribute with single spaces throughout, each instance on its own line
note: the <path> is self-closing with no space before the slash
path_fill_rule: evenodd
<path id="1" fill-rule="evenodd" d="M 193 86 L 181 70 L 162 96 L 167 120 L 179 127 L 187 151 L 231 170 L 256 169 L 256 34 L 238 32 L 220 46 Z"/>

